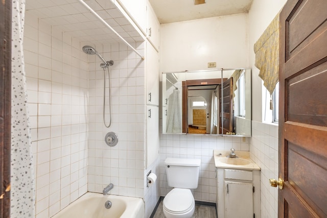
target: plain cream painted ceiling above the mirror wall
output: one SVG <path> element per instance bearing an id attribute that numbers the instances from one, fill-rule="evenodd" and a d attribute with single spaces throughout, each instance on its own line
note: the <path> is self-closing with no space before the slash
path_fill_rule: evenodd
<path id="1" fill-rule="evenodd" d="M 246 13 L 252 1 L 205 0 L 205 4 L 194 5 L 194 0 L 149 0 L 160 23 Z"/>

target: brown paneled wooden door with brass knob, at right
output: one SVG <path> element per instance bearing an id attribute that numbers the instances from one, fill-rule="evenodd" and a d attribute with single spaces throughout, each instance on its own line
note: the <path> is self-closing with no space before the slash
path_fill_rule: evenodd
<path id="1" fill-rule="evenodd" d="M 280 15 L 278 217 L 327 217 L 327 1 Z"/>

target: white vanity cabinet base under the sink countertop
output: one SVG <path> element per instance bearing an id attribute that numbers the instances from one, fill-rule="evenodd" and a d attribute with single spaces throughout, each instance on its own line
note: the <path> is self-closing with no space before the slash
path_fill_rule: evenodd
<path id="1" fill-rule="evenodd" d="M 217 168 L 217 216 L 260 217 L 260 171 Z"/>

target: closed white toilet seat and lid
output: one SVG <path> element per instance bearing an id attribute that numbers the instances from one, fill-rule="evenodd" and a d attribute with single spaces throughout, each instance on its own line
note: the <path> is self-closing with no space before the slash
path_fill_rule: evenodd
<path id="1" fill-rule="evenodd" d="M 180 214 L 192 210 L 195 205 L 190 189 L 173 188 L 166 197 L 162 206 L 170 213 Z"/>

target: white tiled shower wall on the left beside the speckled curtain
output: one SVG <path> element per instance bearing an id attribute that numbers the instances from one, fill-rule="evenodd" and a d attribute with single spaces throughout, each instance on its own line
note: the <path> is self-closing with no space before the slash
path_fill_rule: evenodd
<path id="1" fill-rule="evenodd" d="M 87 57 L 28 12 L 24 35 L 36 217 L 51 217 L 87 191 Z"/>

